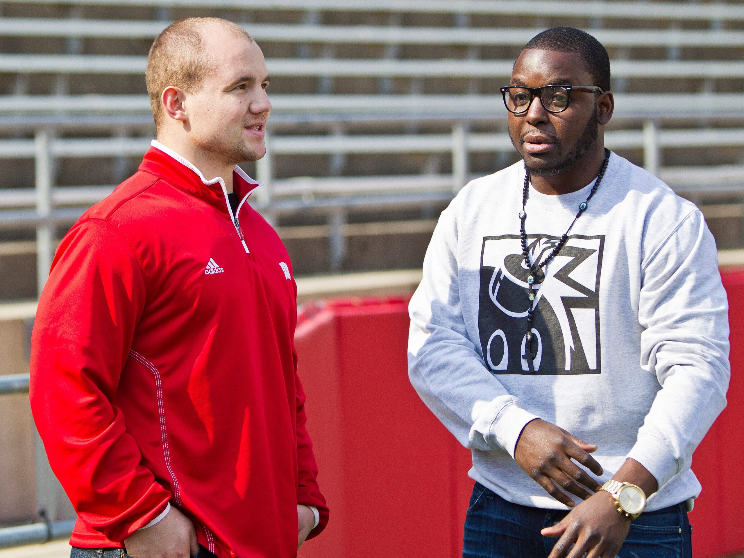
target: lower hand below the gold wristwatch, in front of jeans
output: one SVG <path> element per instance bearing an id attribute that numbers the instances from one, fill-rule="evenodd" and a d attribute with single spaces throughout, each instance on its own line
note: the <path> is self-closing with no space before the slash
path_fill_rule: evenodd
<path id="1" fill-rule="evenodd" d="M 621 516 L 612 496 L 600 490 L 540 533 L 560 537 L 548 558 L 581 558 L 585 553 L 586 558 L 600 558 L 617 556 L 629 529 L 630 519 Z"/>

